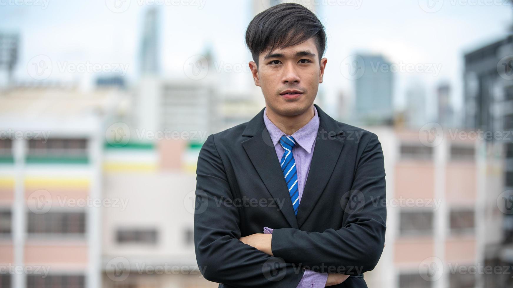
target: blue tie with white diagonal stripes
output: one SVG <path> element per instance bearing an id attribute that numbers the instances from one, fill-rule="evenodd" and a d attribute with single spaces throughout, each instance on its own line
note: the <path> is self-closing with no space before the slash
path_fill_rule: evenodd
<path id="1" fill-rule="evenodd" d="M 294 214 L 298 215 L 299 207 L 299 189 L 298 189 L 298 173 L 295 170 L 295 160 L 292 154 L 292 148 L 295 146 L 295 140 L 292 136 L 282 136 L 280 139 L 280 145 L 285 149 L 280 166 L 282 167 L 283 176 L 287 183 L 289 190 L 290 200 L 292 200 L 292 207 L 294 208 Z"/>

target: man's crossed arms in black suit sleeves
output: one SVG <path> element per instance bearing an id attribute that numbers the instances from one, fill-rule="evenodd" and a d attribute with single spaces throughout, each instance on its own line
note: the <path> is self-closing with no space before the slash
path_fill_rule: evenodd
<path id="1" fill-rule="evenodd" d="M 215 204 L 215 200 L 234 197 L 213 135 L 201 149 L 196 174 L 195 252 L 207 280 L 238 287 L 295 287 L 304 274 L 296 263 L 358 275 L 374 269 L 383 252 L 385 171 L 381 144 L 374 134 L 359 159 L 351 191 L 345 195 L 349 197 L 345 225 L 338 230 L 319 233 L 281 228 L 272 234 L 241 238 L 238 208 Z M 292 246 L 290 239 L 294 239 Z M 255 240 L 252 243 L 257 247 L 246 240 Z"/>

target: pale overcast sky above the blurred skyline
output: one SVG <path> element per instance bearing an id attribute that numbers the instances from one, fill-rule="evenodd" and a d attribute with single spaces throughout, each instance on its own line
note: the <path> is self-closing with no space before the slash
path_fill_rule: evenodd
<path id="1" fill-rule="evenodd" d="M 245 67 L 251 60 L 244 45 L 244 31 L 253 15 L 249 1 L 125 0 L 129 6 L 115 12 L 111 11 L 116 10 L 112 1 L 0 0 L 0 30 L 19 32 L 22 38 L 16 77 L 31 79 L 27 64 L 43 54 L 61 64 L 124 64 L 127 78 L 134 80 L 143 15 L 152 5 L 159 6 L 162 13 L 160 56 L 164 75 L 185 77 L 184 62 L 203 54 L 207 45 L 212 47 L 217 65 Z M 429 111 L 434 108 L 432 96 L 440 81 L 449 81 L 454 102 L 461 106 L 463 54 L 504 37 L 513 22 L 513 9 L 504 4 L 507 0 L 434 1 L 435 6 L 426 6 L 426 1 L 314 1 L 341 4 L 318 10 L 328 34 L 328 64 L 320 88 L 328 104 L 336 103 L 339 91 L 353 93 L 353 82 L 340 70 L 344 59 L 375 52 L 396 64 L 441 68 L 437 75 L 397 72 L 397 108 L 404 106 L 405 89 L 419 81 L 425 84 Z M 176 5 L 180 2 L 189 5 Z M 65 74 L 53 73 L 49 79 L 87 82 L 96 76 Z M 234 89 L 244 91 L 251 85 L 249 73 L 231 74 Z M 333 112 L 331 109 L 334 106 L 326 106 L 328 113 Z"/>

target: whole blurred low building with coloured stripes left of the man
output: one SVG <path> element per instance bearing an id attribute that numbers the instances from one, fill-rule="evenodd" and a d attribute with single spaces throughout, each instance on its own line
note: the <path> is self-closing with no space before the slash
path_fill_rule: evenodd
<path id="1" fill-rule="evenodd" d="M 217 286 L 192 236 L 204 139 L 131 135 L 124 98 L 41 84 L 0 94 L 0 264 L 48 271 L 0 274 L 2 287 Z"/>

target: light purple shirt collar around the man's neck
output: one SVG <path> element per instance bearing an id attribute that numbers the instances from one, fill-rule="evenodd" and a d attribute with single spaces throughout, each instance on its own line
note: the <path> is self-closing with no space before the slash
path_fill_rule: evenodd
<path id="1" fill-rule="evenodd" d="M 280 141 L 280 138 L 285 134 L 280 130 L 273 122 L 267 117 L 267 107 L 264 109 L 264 123 L 267 131 L 269 131 L 269 135 L 271 136 L 272 144 L 276 146 L 276 143 Z M 294 137 L 296 143 L 299 144 L 303 149 L 311 153 L 313 142 L 315 142 L 315 138 L 317 138 L 317 131 L 319 131 L 319 114 L 317 113 L 317 108 L 313 107 L 313 117 L 312 119 L 303 127 L 301 127 L 298 131 L 295 131 L 294 134 L 286 136 Z"/>

